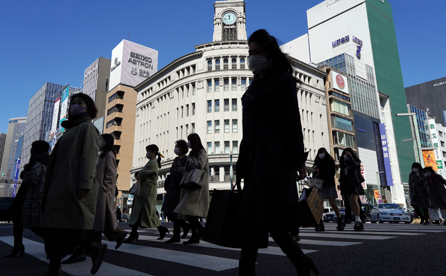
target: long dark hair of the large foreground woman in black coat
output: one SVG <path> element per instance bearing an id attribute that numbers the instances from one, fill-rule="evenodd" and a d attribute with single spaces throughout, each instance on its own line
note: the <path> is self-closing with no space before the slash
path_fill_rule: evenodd
<path id="1" fill-rule="evenodd" d="M 290 74 L 293 73 L 290 59 L 284 52 L 282 52 L 274 36 L 270 35 L 266 30 L 260 29 L 249 36 L 248 45 L 253 42 L 257 43 L 265 50 L 267 60 L 271 61 L 271 66 L 269 67 L 271 71 L 286 71 Z"/>

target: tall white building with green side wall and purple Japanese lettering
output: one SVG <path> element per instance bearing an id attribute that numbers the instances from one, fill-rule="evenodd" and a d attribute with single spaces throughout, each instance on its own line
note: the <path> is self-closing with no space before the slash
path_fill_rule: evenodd
<path id="1" fill-rule="evenodd" d="M 387 202 L 404 203 L 405 171 L 415 155 L 413 147 L 401 142 L 411 136 L 410 122 L 396 116 L 407 107 L 390 3 L 327 0 L 307 10 L 307 21 L 308 33 L 285 44 L 284 51 L 347 73 L 366 183 L 384 186 Z M 380 124 L 385 129 L 380 131 Z M 386 171 L 380 163 L 389 165 Z"/>

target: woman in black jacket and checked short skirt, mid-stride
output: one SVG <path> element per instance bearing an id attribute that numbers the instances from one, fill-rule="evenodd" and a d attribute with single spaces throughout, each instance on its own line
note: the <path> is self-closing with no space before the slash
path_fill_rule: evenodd
<path id="1" fill-rule="evenodd" d="M 333 208 L 334 213 L 336 213 L 338 218 L 337 229 L 339 231 L 344 230 L 345 223 L 344 219 L 341 218 L 341 213 L 339 212 L 338 205 L 336 205 L 335 199 L 338 198 L 338 192 L 336 191 L 336 186 L 334 184 L 334 175 L 336 174 L 336 166 L 334 165 L 334 159 L 330 156 L 325 148 L 320 148 L 318 150 L 318 155 L 314 159 L 313 168 L 317 171 L 316 178 L 323 180 L 322 190 L 318 190 L 321 200 L 328 199 L 331 208 Z M 315 227 L 316 231 L 325 231 L 325 226 L 323 221 Z"/>

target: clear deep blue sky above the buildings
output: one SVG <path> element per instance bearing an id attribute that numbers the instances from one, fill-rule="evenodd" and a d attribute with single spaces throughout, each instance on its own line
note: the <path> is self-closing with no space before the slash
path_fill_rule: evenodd
<path id="1" fill-rule="evenodd" d="M 348 1 L 348 0 L 344 0 Z M 378 1 L 378 0 L 377 0 Z M 306 10 L 322 0 L 246 0 L 247 33 L 282 43 L 307 33 Z M 0 132 L 25 115 L 45 82 L 80 87 L 87 66 L 123 39 L 159 51 L 158 69 L 212 41 L 212 0 L 1 1 Z M 446 76 L 444 0 L 391 0 L 404 86 Z"/>

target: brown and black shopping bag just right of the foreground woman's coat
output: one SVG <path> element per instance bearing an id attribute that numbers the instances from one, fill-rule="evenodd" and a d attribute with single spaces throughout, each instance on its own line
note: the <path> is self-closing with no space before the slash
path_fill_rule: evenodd
<path id="1" fill-rule="evenodd" d="M 304 188 L 298 202 L 299 224 L 302 227 L 316 227 L 322 219 L 324 212 L 323 202 L 318 191 L 311 187 Z"/>

